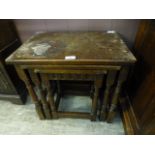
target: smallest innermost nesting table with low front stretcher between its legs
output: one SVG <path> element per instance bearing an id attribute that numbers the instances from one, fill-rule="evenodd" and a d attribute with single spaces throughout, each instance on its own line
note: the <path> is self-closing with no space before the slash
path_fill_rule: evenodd
<path id="1" fill-rule="evenodd" d="M 34 71 L 35 72 L 35 71 Z M 54 102 L 54 96 L 53 93 L 51 91 L 51 84 L 49 82 L 49 80 L 92 80 L 94 81 L 94 95 L 93 95 L 93 99 L 92 99 L 92 109 L 91 109 L 91 113 L 89 114 L 92 121 L 96 120 L 96 116 L 97 116 L 97 104 L 98 104 L 98 96 L 99 96 L 99 89 L 102 86 L 102 80 L 103 80 L 103 71 L 100 73 L 100 75 L 89 75 L 87 73 L 76 73 L 76 74 L 69 74 L 70 71 L 68 71 L 68 74 L 50 74 L 49 70 L 38 70 L 38 73 L 41 76 L 41 79 L 45 85 L 45 87 L 47 88 L 47 92 L 48 92 L 48 98 L 49 98 L 49 102 L 51 105 L 51 111 L 53 114 L 53 118 L 57 118 L 59 116 L 59 111 L 57 110 L 58 107 L 56 106 L 59 103 L 56 100 L 56 102 Z M 105 73 L 105 72 L 104 72 Z M 61 75 L 61 76 L 60 76 Z M 87 79 L 86 79 L 87 78 Z M 59 82 L 57 81 L 58 84 L 58 88 L 59 86 Z M 60 89 L 60 88 L 59 88 Z M 60 90 L 58 89 L 58 98 L 60 98 Z M 60 100 L 60 99 L 58 99 Z M 77 116 L 76 116 L 77 115 Z M 83 117 L 85 116 L 85 114 L 81 114 L 81 113 L 73 113 L 72 114 L 70 112 L 65 112 L 64 116 L 73 116 L 73 117 Z M 61 115 L 63 116 L 62 112 Z M 84 117 L 85 118 L 85 117 Z M 86 117 L 87 118 L 87 117 Z"/>

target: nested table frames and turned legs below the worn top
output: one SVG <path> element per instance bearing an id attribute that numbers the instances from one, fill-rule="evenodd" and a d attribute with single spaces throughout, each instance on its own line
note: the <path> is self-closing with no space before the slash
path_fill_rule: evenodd
<path id="1" fill-rule="evenodd" d="M 88 118 L 96 121 L 97 111 L 99 110 L 100 120 L 106 120 L 107 122 L 112 122 L 115 116 L 121 86 L 128 73 L 128 67 L 109 65 L 66 65 L 63 66 L 63 69 L 61 65 L 16 65 L 16 70 L 29 91 L 40 119 L 72 117 Z M 104 77 L 106 77 L 106 87 L 103 92 L 103 103 L 98 109 L 99 91 Z M 55 102 L 50 80 L 57 81 L 58 95 Z M 61 98 L 60 80 L 94 81 L 91 113 L 58 111 Z M 35 84 L 38 95 L 32 85 L 32 81 Z M 43 89 L 43 86 L 45 89 Z M 112 94 L 111 89 L 114 90 Z"/>

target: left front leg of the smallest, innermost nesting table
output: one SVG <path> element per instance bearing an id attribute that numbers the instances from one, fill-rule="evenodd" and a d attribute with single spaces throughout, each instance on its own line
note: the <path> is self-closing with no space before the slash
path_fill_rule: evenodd
<path id="1" fill-rule="evenodd" d="M 53 91 L 52 91 L 52 86 L 50 85 L 50 81 L 48 79 L 48 74 L 41 74 L 42 82 L 44 83 L 46 89 L 47 89 L 47 97 L 49 100 L 50 104 L 50 109 L 52 111 L 53 118 L 57 118 L 57 111 L 56 111 L 56 106 L 54 103 L 54 96 L 53 96 Z"/>

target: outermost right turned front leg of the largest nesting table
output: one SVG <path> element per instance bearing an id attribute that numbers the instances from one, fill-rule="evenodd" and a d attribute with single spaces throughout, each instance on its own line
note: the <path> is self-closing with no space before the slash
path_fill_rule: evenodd
<path id="1" fill-rule="evenodd" d="M 114 116 L 115 116 L 115 109 L 116 109 L 117 104 L 118 104 L 118 98 L 119 98 L 119 94 L 121 91 L 122 83 L 126 80 L 127 74 L 128 74 L 128 68 L 126 68 L 126 67 L 121 69 L 121 71 L 119 73 L 117 85 L 115 87 L 113 97 L 112 97 L 112 101 L 111 101 L 111 106 L 110 106 L 110 109 L 108 112 L 108 117 L 107 117 L 108 123 L 111 123 L 113 121 Z"/>

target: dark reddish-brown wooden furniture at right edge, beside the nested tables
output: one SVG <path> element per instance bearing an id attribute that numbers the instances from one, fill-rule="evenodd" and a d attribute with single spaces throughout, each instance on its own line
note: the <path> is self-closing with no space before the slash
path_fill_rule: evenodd
<path id="1" fill-rule="evenodd" d="M 134 46 L 138 61 L 128 86 L 127 104 L 123 107 L 125 126 L 134 134 L 155 134 L 154 43 L 155 20 L 142 20 Z"/>

